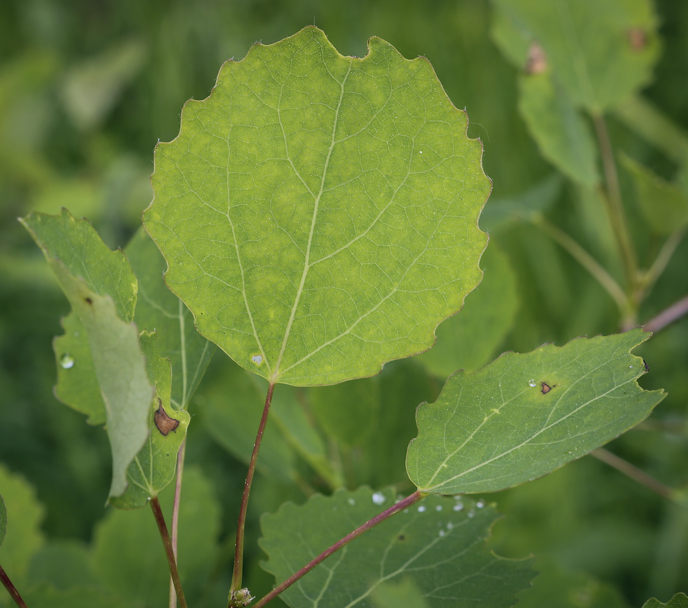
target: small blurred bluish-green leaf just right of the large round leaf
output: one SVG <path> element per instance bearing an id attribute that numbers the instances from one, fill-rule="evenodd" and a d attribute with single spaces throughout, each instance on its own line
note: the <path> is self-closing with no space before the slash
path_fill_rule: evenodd
<path id="1" fill-rule="evenodd" d="M 513 221 L 530 221 L 535 213 L 544 213 L 561 194 L 563 178 L 552 173 L 513 199 L 489 199 L 480 215 L 480 228 L 494 232 Z"/>

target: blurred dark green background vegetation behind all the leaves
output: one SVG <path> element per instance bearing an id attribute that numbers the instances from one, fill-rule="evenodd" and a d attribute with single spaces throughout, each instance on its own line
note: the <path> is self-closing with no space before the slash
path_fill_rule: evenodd
<path id="1" fill-rule="evenodd" d="M 688 129 L 688 3 L 660 0 L 656 11 L 663 50 L 642 95 Z M 342 54 L 365 55 L 367 39 L 376 35 L 406 57 L 429 58 L 451 100 L 468 112 L 469 135 L 484 142 L 484 168 L 494 184 L 488 208 L 517 199 L 555 169 L 519 115 L 517 69 L 493 43 L 491 19 L 484 0 L 0 2 L 0 462 L 35 488 L 44 507 L 37 521 L 49 545 L 93 541 L 109 512 L 103 507 L 109 446 L 102 428 L 87 426 L 52 395 L 51 341 L 69 305 L 16 218 L 66 206 L 88 217 L 109 246 L 125 246 L 151 200 L 153 146 L 177 135 L 184 101 L 208 96 L 219 66 L 243 57 L 251 43 L 272 43 L 312 24 Z M 616 146 L 674 177 L 671 159 L 614 116 L 609 124 Z M 621 179 L 630 191 L 628 177 Z M 548 217 L 587 244 L 572 186 L 561 186 Z M 537 228 L 513 224 L 491 239 L 515 271 L 519 300 L 497 352 L 617 330 L 601 287 Z M 684 242 L 643 305 L 641 321 L 688 292 L 687 261 Z M 643 386 L 663 387 L 669 396 L 653 415 L 657 424 L 630 431 L 610 449 L 665 484 L 688 488 L 688 318 L 638 354 L 650 368 Z M 201 594 L 208 602 L 228 588 L 246 466 L 241 450 L 217 431 L 211 436 L 204 420 L 230 390 L 226 378 L 234 369 L 222 352 L 215 354 L 191 407 L 187 462 L 205 479 L 197 483 L 210 482 L 203 486 L 208 501 L 219 504 L 217 529 L 208 532 L 218 548 Z M 408 490 L 404 457 L 416 432 L 413 413 L 422 400 L 436 398 L 441 382 L 413 360 L 387 365 L 375 382 L 381 395 L 375 420 L 349 450 L 345 479 L 352 487 Z M 259 515 L 287 499 L 303 501 L 310 491 L 269 467 L 259 474 L 248 530 L 255 594 L 271 584 L 258 565 Z M 506 515 L 495 528 L 495 550 L 538 558 L 542 574 L 524 605 L 640 606 L 652 595 L 666 601 L 688 591 L 688 511 L 591 457 L 491 499 Z"/>

